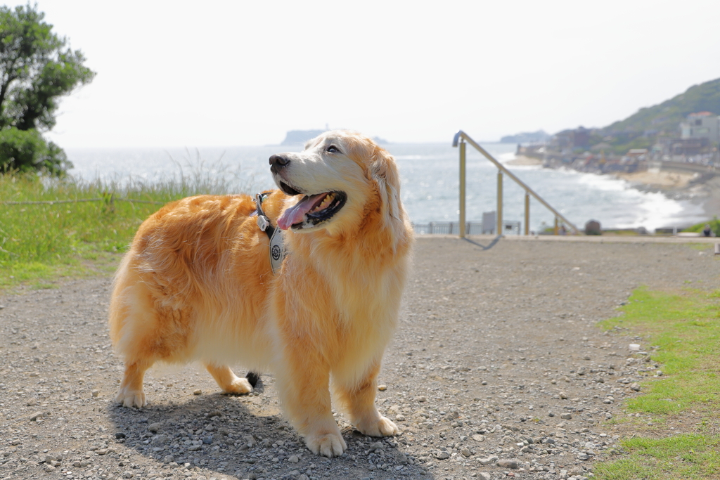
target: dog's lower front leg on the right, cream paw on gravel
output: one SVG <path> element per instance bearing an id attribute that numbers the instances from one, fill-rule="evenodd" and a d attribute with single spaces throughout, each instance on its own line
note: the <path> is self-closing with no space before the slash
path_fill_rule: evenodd
<path id="1" fill-rule="evenodd" d="M 377 361 L 357 383 L 343 382 L 343 379 L 338 379 L 337 376 L 333 378 L 334 390 L 350 414 L 351 422 L 361 433 L 371 437 L 387 437 L 400 433 L 395 423 L 380 415 L 375 407 L 379 371 L 380 363 Z"/>

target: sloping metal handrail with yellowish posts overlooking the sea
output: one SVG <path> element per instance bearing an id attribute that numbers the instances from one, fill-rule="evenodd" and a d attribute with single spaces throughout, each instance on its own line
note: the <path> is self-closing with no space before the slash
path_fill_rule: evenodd
<path id="1" fill-rule="evenodd" d="M 580 230 L 578 230 L 577 227 L 575 227 L 575 225 L 570 222 L 570 220 L 565 218 L 560 212 L 558 212 L 549 203 L 547 203 L 541 196 L 536 194 L 533 189 L 531 189 L 520 178 L 516 177 L 511 171 L 505 168 L 502 163 L 498 162 L 498 160 L 495 160 L 495 158 L 493 158 L 490 153 L 487 153 L 487 150 L 485 150 L 485 148 L 482 148 L 480 145 L 478 145 L 478 143 L 475 140 L 472 140 L 472 138 L 467 135 L 467 133 L 459 130 L 452 140 L 452 146 L 457 147 L 458 143 L 460 145 L 460 237 L 465 236 L 465 141 L 472 145 L 475 150 L 482 153 L 482 155 L 485 155 L 485 158 L 487 158 L 487 160 L 490 160 L 492 163 L 495 164 L 496 167 L 498 167 L 498 225 L 501 225 L 501 222 L 503 222 L 503 173 L 505 173 L 507 176 L 512 178 L 516 184 L 518 184 L 525 190 L 525 235 L 528 235 L 530 225 L 530 195 L 534 196 L 537 201 L 539 201 L 541 204 L 544 205 L 544 207 L 546 207 L 546 209 L 549 209 L 550 212 L 553 212 L 555 214 L 556 234 L 557 219 L 562 219 L 562 222 L 569 225 L 570 228 L 572 228 L 572 230 L 575 232 L 575 234 L 580 233 Z M 498 235 L 500 235 L 500 233 L 500 227 L 498 227 Z"/>

